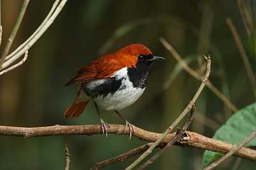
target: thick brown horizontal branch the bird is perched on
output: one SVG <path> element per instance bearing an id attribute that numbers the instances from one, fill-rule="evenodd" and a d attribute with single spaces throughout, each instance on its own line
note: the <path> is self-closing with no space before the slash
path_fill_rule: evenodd
<path id="1" fill-rule="evenodd" d="M 155 142 L 161 135 L 154 132 L 148 132 L 138 127 L 134 127 L 135 133 L 132 135 L 138 137 L 142 141 Z M 125 130 L 124 125 L 109 124 L 109 134 L 129 135 L 129 130 Z M 0 135 L 24 137 L 28 139 L 31 137 L 43 137 L 52 135 L 93 135 L 102 134 L 100 125 L 77 125 L 77 126 L 63 126 L 54 125 L 50 127 L 6 127 L 0 126 Z M 161 143 L 168 143 L 175 137 L 176 133 L 168 134 Z M 198 148 L 202 150 L 211 150 L 220 153 L 227 153 L 236 144 L 229 144 L 215 139 L 205 137 L 204 135 L 196 134 L 195 132 L 185 131 L 184 135 L 175 143 L 175 145 L 182 147 Z M 256 150 L 250 148 L 241 148 L 234 154 L 236 157 L 246 158 L 256 162 Z"/>

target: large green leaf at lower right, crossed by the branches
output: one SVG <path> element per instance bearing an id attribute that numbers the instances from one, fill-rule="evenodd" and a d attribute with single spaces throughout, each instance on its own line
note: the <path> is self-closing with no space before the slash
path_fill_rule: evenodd
<path id="1" fill-rule="evenodd" d="M 236 112 L 228 119 L 225 125 L 222 125 L 216 131 L 213 139 L 224 141 L 226 143 L 239 144 L 248 135 L 256 129 L 256 104 L 249 105 Z M 246 147 L 256 146 L 256 139 L 246 144 Z M 205 151 L 203 158 L 203 167 L 208 166 L 214 160 L 220 158 L 223 154 L 214 151 Z"/>

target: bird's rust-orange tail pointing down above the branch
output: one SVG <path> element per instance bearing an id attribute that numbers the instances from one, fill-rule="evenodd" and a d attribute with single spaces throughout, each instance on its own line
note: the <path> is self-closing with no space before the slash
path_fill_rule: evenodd
<path id="1" fill-rule="evenodd" d="M 74 102 L 64 113 L 64 118 L 77 118 L 83 111 L 90 100 L 81 100 L 80 93 L 77 94 Z"/>

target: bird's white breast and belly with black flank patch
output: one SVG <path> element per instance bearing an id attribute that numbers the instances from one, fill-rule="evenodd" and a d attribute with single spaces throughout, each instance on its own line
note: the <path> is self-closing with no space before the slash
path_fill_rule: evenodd
<path id="1" fill-rule="evenodd" d="M 145 87 L 134 87 L 127 75 L 127 68 L 118 70 L 108 79 L 86 82 L 82 88 L 88 97 L 107 111 L 128 107 L 138 100 L 145 90 Z"/>

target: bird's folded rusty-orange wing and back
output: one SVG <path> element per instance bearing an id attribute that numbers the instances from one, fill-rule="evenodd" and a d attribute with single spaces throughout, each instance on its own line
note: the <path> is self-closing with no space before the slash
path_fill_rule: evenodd
<path id="1" fill-rule="evenodd" d="M 104 56 L 85 66 L 79 72 L 76 77 L 68 81 L 65 86 L 69 86 L 75 83 L 82 83 L 88 81 L 96 81 L 113 76 L 113 73 L 124 68 L 125 65 L 118 61 L 114 56 Z"/>

